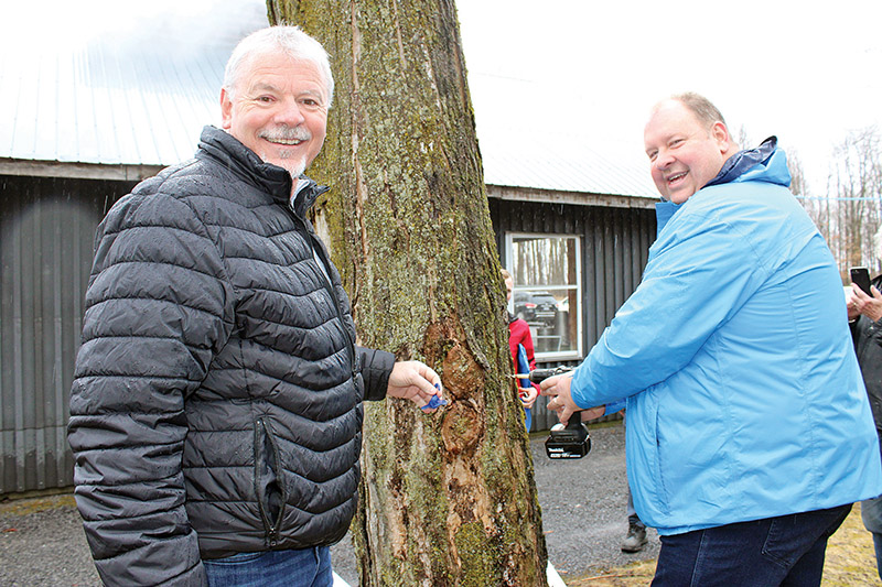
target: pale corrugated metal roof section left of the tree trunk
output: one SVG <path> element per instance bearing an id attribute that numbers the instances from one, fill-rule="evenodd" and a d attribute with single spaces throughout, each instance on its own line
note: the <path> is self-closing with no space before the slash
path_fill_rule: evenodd
<path id="1" fill-rule="evenodd" d="M 82 36 L 41 39 L 53 29 L 28 22 L 18 25 L 33 37 L 2 35 L 0 112 L 11 117 L 0 121 L 0 157 L 169 165 L 192 156 L 202 127 L 219 121 L 224 64 L 267 25 L 266 8 L 168 10 Z"/>

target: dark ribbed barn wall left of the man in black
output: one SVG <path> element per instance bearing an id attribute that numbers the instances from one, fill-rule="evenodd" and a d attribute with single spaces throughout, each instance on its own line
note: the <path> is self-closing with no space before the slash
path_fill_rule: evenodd
<path id="1" fill-rule="evenodd" d="M 66 424 L 95 228 L 132 185 L 0 175 L 0 494 L 72 485 Z"/>

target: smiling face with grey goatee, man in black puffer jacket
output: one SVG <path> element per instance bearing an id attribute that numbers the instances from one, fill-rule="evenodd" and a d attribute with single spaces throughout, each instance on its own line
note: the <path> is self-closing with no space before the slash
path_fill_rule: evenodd
<path id="1" fill-rule="evenodd" d="M 297 177 L 322 150 L 329 96 L 310 61 L 281 52 L 249 57 L 233 93 L 220 90 L 223 128 Z"/>

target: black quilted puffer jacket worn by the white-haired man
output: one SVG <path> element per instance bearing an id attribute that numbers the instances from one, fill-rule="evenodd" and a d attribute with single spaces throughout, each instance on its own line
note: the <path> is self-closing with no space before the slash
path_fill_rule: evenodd
<path id="1" fill-rule="evenodd" d="M 68 438 L 108 585 L 202 585 L 201 557 L 346 533 L 361 402 L 395 358 L 354 345 L 301 183 L 292 211 L 286 171 L 206 127 L 98 228 Z"/>

